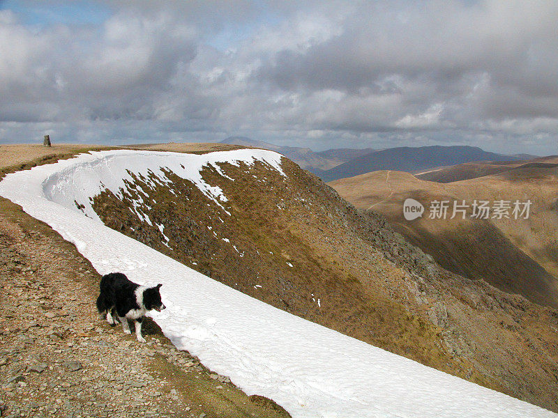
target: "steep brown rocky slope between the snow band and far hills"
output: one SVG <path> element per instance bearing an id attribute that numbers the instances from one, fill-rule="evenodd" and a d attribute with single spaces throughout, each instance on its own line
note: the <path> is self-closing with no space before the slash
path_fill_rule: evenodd
<path id="1" fill-rule="evenodd" d="M 284 159 L 202 171 L 227 201 L 171 171 L 133 176 L 93 208 L 121 231 L 303 318 L 558 410 L 558 313 L 436 265 L 373 212 Z M 141 198 L 141 199 L 140 199 Z M 138 203 L 143 202 L 143 203 Z M 151 224 L 138 216 L 149 213 Z"/>

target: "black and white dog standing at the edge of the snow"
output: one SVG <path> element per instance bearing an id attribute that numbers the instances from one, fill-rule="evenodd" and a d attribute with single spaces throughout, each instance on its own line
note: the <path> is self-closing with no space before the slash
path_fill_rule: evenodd
<path id="1" fill-rule="evenodd" d="M 159 292 L 161 286 L 148 288 L 128 280 L 122 273 L 105 274 L 100 279 L 100 295 L 97 298 L 100 318 L 106 318 L 110 325 L 115 325 L 117 317 L 126 334 L 130 334 L 128 319 L 133 319 L 137 341 L 144 343 L 142 320 L 146 311 L 155 309 L 160 312 L 165 309 Z"/>

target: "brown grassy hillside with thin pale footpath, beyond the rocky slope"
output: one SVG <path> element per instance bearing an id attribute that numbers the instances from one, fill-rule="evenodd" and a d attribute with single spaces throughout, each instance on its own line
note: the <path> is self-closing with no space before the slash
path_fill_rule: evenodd
<path id="1" fill-rule="evenodd" d="M 549 208 L 558 197 L 557 168 L 513 169 L 445 184 L 400 171 L 390 171 L 388 178 L 386 171 L 377 171 L 329 185 L 356 207 L 385 215 L 396 230 L 448 270 L 558 306 L 558 213 Z M 425 206 L 422 219 L 408 222 L 402 217 L 403 202 L 409 197 Z M 527 199 L 532 202 L 529 219 L 428 219 L 434 200 L 471 204 Z"/>

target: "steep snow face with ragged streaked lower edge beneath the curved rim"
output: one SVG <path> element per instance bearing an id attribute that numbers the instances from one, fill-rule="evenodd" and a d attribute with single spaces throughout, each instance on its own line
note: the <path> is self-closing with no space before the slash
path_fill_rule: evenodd
<path id="1" fill-rule="evenodd" d="M 163 169 L 166 169 L 192 181 L 205 196 L 230 215 L 222 205 L 227 201 L 223 190 L 206 183 L 200 171 L 204 167 L 213 167 L 218 173 L 223 174 L 217 164 L 219 162 L 228 162 L 239 167 L 240 162 L 251 165 L 255 161 L 260 161 L 285 175 L 281 169 L 280 154 L 266 150 L 250 151 L 252 152 L 234 150 L 204 155 L 130 150 L 92 152 L 81 155 L 79 162 L 75 159 L 67 160 L 68 164 L 64 164 L 59 171 L 50 173 L 45 178 L 43 189 L 50 201 L 73 210 L 78 210 L 77 202 L 84 206 L 82 212 L 100 222 L 98 215 L 91 208 L 90 202 L 93 196 L 104 189 L 110 189 L 116 196 L 122 197 L 121 187 L 124 187 L 126 181 L 133 181 L 130 173 L 142 178 L 148 185 L 169 185 L 169 180 L 163 172 Z M 233 180 L 228 176 L 227 178 Z M 145 194 L 143 189 L 138 189 Z M 172 188 L 171 192 L 174 193 Z M 151 225 L 149 216 L 139 209 L 142 203 L 144 202 L 141 198 L 133 201 L 136 214 Z"/>

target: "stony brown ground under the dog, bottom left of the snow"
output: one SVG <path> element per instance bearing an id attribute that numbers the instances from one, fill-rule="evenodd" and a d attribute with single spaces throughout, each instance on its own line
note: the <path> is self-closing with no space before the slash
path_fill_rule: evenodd
<path id="1" fill-rule="evenodd" d="M 0 199 L 1 417 L 288 417 L 176 350 L 95 310 L 99 275 L 45 224 Z"/>

